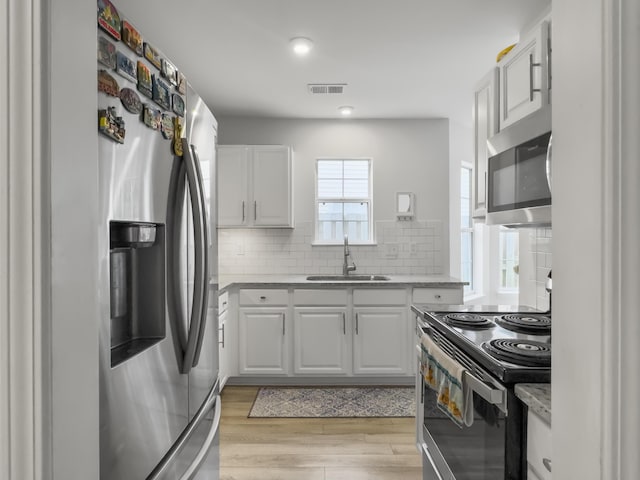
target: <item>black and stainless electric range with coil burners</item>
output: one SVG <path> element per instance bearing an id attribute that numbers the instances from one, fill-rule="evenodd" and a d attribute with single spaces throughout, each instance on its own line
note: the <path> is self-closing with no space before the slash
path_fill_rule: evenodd
<path id="1" fill-rule="evenodd" d="M 526 478 L 526 410 L 514 387 L 551 380 L 551 315 L 501 305 L 412 305 L 411 309 L 416 333 L 428 335 L 466 368 L 464 378 L 473 397 L 473 424 L 460 428 L 433 415 L 436 394 L 418 373 L 423 477 Z"/>

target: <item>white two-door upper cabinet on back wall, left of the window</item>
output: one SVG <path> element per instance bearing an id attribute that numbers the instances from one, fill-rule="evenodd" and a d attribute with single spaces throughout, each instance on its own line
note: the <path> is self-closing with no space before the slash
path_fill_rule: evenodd
<path id="1" fill-rule="evenodd" d="M 218 226 L 292 227 L 291 149 L 218 147 Z"/>

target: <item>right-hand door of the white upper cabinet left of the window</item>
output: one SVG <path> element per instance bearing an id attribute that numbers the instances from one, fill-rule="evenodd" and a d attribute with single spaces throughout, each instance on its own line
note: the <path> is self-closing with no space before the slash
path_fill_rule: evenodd
<path id="1" fill-rule="evenodd" d="M 254 146 L 252 149 L 253 224 L 292 226 L 290 149 L 278 145 Z"/>

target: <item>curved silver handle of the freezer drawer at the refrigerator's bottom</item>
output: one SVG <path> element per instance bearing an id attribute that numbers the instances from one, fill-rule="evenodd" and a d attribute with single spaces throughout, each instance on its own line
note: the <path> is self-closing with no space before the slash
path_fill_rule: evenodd
<path id="1" fill-rule="evenodd" d="M 216 433 L 218 432 L 218 428 L 220 427 L 220 416 L 222 414 L 222 401 L 220 399 L 220 395 L 218 395 L 218 380 L 216 380 L 213 387 L 209 391 L 207 395 L 207 399 L 204 401 L 200 408 L 194 415 L 193 419 L 189 422 L 189 424 L 182 431 L 176 442 L 171 446 L 169 451 L 162 457 L 160 463 L 156 465 L 153 471 L 147 476 L 146 480 L 158 480 L 161 478 L 162 474 L 169 468 L 175 457 L 180 453 L 180 451 L 184 448 L 184 446 L 189 442 L 191 435 L 193 432 L 200 426 L 202 421 L 207 417 L 207 414 L 212 408 L 215 408 L 213 414 L 213 422 L 211 422 L 211 428 L 209 432 L 207 432 L 207 438 L 203 442 L 202 447 L 196 454 L 193 462 L 189 465 L 185 473 L 182 474 L 180 480 L 190 480 L 193 478 L 195 473 L 198 471 L 202 462 L 207 456 L 207 453 L 211 449 L 213 445 L 213 441 L 215 439 Z"/>

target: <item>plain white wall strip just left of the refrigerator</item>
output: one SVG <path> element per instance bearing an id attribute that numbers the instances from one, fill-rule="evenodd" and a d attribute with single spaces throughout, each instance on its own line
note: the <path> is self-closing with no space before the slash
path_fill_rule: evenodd
<path id="1" fill-rule="evenodd" d="M 48 447 L 53 480 L 93 480 L 99 477 L 96 6 L 56 0 L 50 8 L 51 218 L 43 219 L 51 229 Z"/>

